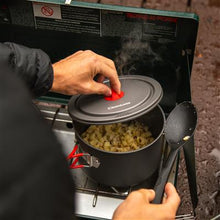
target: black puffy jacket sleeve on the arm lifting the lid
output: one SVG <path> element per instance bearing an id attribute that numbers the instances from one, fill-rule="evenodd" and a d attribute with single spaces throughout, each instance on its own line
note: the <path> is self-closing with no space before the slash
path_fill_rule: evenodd
<path id="1" fill-rule="evenodd" d="M 25 81 L 33 96 L 46 94 L 53 83 L 50 58 L 40 49 L 15 43 L 0 43 L 0 66 L 8 66 Z"/>

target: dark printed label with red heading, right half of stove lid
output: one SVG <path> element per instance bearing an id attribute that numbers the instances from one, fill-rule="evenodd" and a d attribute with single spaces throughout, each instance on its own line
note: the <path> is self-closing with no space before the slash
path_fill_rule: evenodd
<path id="1" fill-rule="evenodd" d="M 175 17 L 102 11 L 102 36 L 126 36 L 167 43 L 176 40 L 176 27 Z"/>

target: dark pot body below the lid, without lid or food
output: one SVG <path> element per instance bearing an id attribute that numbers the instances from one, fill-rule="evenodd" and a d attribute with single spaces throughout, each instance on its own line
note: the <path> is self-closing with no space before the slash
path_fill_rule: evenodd
<path id="1" fill-rule="evenodd" d="M 149 127 L 155 140 L 139 150 L 123 153 L 107 152 L 87 144 L 81 138 L 81 134 L 89 125 L 73 121 L 79 151 L 96 157 L 100 162 L 98 168 L 83 168 L 88 177 L 100 184 L 128 187 L 143 182 L 158 171 L 164 138 L 164 112 L 157 105 L 153 110 L 136 120 Z M 79 161 L 85 164 L 83 158 Z"/>

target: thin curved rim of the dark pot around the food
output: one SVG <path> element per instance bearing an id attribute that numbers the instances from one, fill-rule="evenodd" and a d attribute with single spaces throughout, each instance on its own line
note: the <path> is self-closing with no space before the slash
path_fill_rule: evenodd
<path id="1" fill-rule="evenodd" d="M 92 149 L 97 150 L 97 151 L 102 152 L 102 153 L 108 153 L 108 154 L 113 154 L 113 155 L 124 155 L 124 154 L 130 154 L 130 153 L 135 153 L 135 152 L 138 152 L 138 151 L 142 151 L 142 150 L 144 150 L 144 149 L 146 149 L 146 148 L 151 147 L 151 146 L 163 135 L 163 133 L 164 133 L 164 125 L 165 125 L 165 121 L 166 121 L 166 119 L 165 119 L 165 114 L 164 114 L 164 111 L 163 111 L 163 109 L 161 108 L 160 105 L 157 105 L 156 107 L 158 107 L 158 108 L 160 109 L 160 112 L 161 112 L 161 114 L 162 114 L 162 117 L 163 117 L 163 128 L 162 128 L 160 134 L 157 135 L 157 137 L 154 139 L 153 142 L 151 142 L 150 144 L 148 144 L 148 145 L 146 145 L 146 146 L 144 146 L 144 147 L 142 147 L 142 148 L 139 148 L 139 149 L 137 149 L 137 150 L 126 151 L 126 152 L 105 151 L 105 150 L 102 150 L 102 149 L 93 147 L 92 145 L 90 145 L 90 144 L 88 144 L 87 142 L 85 142 L 85 141 L 81 138 L 81 136 L 79 135 L 79 133 L 78 133 L 76 130 L 75 130 L 75 133 L 77 133 L 77 136 L 79 137 L 80 141 L 82 141 L 84 144 L 86 144 L 87 146 L 91 147 Z M 156 107 L 155 107 L 155 108 L 156 108 Z M 154 109 L 155 109 L 155 108 L 154 108 Z M 152 110 L 154 110 L 154 109 L 152 109 Z M 146 113 L 146 114 L 148 114 L 148 113 Z M 140 117 L 140 116 L 139 116 L 139 117 Z M 138 117 L 138 118 L 139 118 L 139 117 Z M 76 139 L 77 139 L 77 138 L 76 138 Z M 79 147 L 80 147 L 80 144 L 79 144 Z"/>

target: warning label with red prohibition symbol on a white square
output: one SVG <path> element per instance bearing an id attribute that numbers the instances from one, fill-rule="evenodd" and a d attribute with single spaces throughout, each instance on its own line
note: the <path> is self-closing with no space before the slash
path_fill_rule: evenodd
<path id="1" fill-rule="evenodd" d="M 100 13 L 92 8 L 33 2 L 38 29 L 100 35 Z"/>

